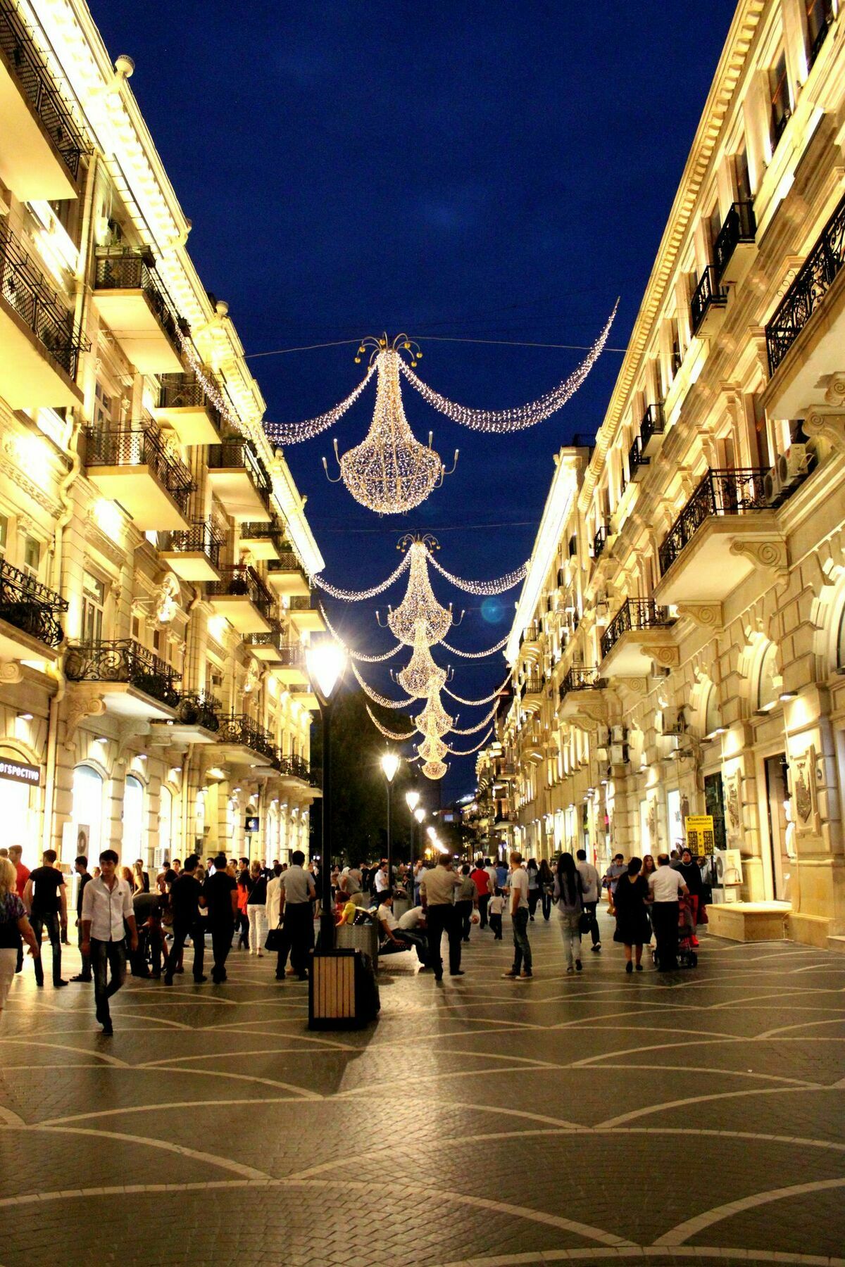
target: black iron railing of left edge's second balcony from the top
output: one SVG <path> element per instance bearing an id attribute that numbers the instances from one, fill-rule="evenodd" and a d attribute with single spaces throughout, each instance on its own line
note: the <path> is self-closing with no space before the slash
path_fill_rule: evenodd
<path id="1" fill-rule="evenodd" d="M 44 351 L 61 365 L 68 378 L 75 379 L 80 352 L 87 352 L 91 343 L 82 338 L 73 323 L 73 314 L 61 302 L 18 238 L 3 223 L 0 223 L 0 294 L 29 327 Z"/>

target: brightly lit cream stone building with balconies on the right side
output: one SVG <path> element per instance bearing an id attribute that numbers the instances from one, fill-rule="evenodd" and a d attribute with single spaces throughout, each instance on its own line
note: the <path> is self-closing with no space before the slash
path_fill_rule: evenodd
<path id="1" fill-rule="evenodd" d="M 845 16 L 740 0 L 589 447 L 561 449 L 497 745 L 528 856 L 713 817 L 711 927 L 845 941 Z M 551 689 L 526 689 L 537 675 Z M 725 855 L 727 856 L 727 855 Z"/>

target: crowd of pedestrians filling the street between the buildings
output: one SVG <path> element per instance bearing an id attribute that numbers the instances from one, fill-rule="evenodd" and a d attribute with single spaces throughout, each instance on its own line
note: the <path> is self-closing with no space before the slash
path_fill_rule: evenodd
<path id="1" fill-rule="evenodd" d="M 1 856 L 5 854 L 6 856 Z M 139 977 L 156 977 L 165 986 L 184 973 L 186 946 L 193 950 L 193 978 L 205 974 L 206 939 L 210 938 L 212 981 L 227 979 L 227 959 L 233 944 L 251 955 L 276 955 L 276 979 L 308 979 L 318 911 L 318 872 L 305 865 L 296 850 L 290 864 L 265 867 L 248 858 L 224 854 L 205 863 L 190 855 L 162 868 L 151 883 L 138 859 L 119 867 L 118 854 L 106 849 L 89 873 L 87 858 L 75 860 L 77 877 L 76 927 L 80 972 L 73 982 L 91 983 L 96 1019 L 111 1034 L 109 1000 L 120 990 L 127 963 Z M 533 977 L 530 925 L 556 912 L 568 973 L 580 973 L 583 938 L 590 950 L 602 950 L 597 912 L 602 893 L 614 917 L 613 940 L 623 946 L 625 972 L 642 972 L 642 952 L 652 946 L 660 971 L 677 967 L 679 914 L 688 910 L 693 944 L 697 926 L 706 922 L 707 888 L 699 860 L 688 849 L 680 855 L 655 859 L 617 853 L 607 870 L 598 869 L 579 849 L 561 853 L 555 867 L 546 859 L 524 863 L 511 853 L 509 864 L 490 859 L 457 863 L 450 854 L 419 860 L 410 868 L 390 868 L 388 859 L 357 867 L 334 867 L 332 901 L 338 925 L 370 922 L 379 935 L 380 953 L 413 949 L 419 971 L 442 981 L 442 939 L 447 943 L 448 973 L 464 976 L 462 946 L 471 930 L 489 929 L 503 941 L 503 921 L 511 919 L 513 959 L 502 976 L 512 981 Z M 402 901 L 397 914 L 394 901 Z M 23 948 L 33 957 L 38 987 L 44 986 L 42 941 L 51 945 L 52 983 L 62 978 L 62 945 L 67 944 L 67 886 L 56 865 L 56 853 L 44 850 L 42 865 L 32 872 L 22 863 L 22 849 L 0 850 L 0 1010 L 14 974 L 22 972 Z"/>

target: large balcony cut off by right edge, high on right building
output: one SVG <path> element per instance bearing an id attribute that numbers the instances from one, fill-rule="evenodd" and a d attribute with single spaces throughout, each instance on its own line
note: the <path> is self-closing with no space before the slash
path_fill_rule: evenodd
<path id="1" fill-rule="evenodd" d="M 772 381 L 763 403 L 775 418 L 825 404 L 845 345 L 845 198 L 765 328 Z"/>

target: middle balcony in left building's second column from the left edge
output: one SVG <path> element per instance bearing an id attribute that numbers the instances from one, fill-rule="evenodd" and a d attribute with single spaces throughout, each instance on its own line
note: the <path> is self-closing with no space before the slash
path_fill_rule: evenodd
<path id="1" fill-rule="evenodd" d="M 103 497 L 119 502 L 142 532 L 189 527 L 195 484 L 155 423 L 89 427 L 85 465 Z"/>

